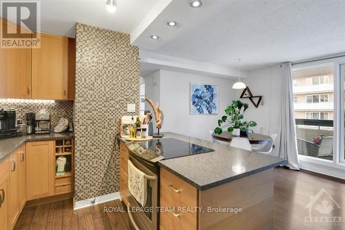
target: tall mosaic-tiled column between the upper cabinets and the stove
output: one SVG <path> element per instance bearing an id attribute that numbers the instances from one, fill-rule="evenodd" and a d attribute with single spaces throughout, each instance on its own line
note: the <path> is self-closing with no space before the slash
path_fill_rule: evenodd
<path id="1" fill-rule="evenodd" d="M 75 199 L 119 191 L 115 137 L 127 104 L 139 111 L 139 49 L 130 35 L 77 23 Z M 108 164 L 109 163 L 109 164 Z"/>

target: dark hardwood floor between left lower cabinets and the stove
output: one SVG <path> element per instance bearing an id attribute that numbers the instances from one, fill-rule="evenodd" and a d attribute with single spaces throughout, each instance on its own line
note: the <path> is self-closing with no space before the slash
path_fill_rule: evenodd
<path id="1" fill-rule="evenodd" d="M 25 207 L 14 229 L 132 229 L 126 212 L 104 212 L 103 207 L 117 207 L 126 211 L 119 200 L 73 211 L 72 200 L 61 200 L 35 207 Z M 109 209 L 110 210 L 110 209 Z"/>

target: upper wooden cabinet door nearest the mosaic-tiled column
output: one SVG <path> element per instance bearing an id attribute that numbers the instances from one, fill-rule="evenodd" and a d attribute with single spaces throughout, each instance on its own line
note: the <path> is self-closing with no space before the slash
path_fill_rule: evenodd
<path id="1" fill-rule="evenodd" d="M 68 99 L 68 38 L 41 33 L 32 49 L 32 99 Z"/>

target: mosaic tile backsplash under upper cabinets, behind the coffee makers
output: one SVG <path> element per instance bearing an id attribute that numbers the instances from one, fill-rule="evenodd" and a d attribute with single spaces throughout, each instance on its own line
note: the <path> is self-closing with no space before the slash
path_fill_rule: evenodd
<path id="1" fill-rule="evenodd" d="M 21 119 L 24 124 L 26 113 L 38 113 L 41 109 L 46 109 L 50 113 L 52 128 L 58 124 L 61 117 L 67 118 L 70 122 L 73 121 L 72 101 L 0 99 L 0 108 L 17 108 L 17 119 Z"/>

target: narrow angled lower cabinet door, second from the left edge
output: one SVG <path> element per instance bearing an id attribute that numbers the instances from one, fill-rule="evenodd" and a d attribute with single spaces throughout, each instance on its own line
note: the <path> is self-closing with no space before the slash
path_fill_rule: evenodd
<path id="1" fill-rule="evenodd" d="M 20 205 L 19 205 L 19 164 L 18 154 L 14 151 L 10 154 L 10 211 L 9 211 L 9 224 L 10 229 L 19 218 Z"/>

